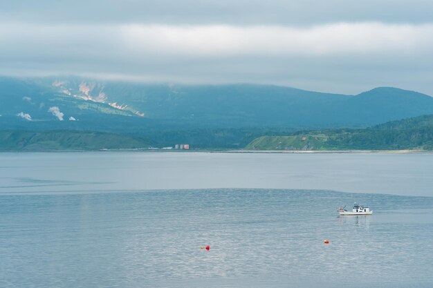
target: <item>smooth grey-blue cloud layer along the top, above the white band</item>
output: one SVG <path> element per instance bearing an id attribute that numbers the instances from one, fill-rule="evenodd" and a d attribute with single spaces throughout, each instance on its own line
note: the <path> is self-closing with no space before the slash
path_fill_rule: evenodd
<path id="1" fill-rule="evenodd" d="M 1 4 L 4 3 L 4 4 Z M 430 0 L 55 0 L 2 1 L 0 19 L 33 23 L 291 25 L 338 21 L 425 23 Z M 83 8 L 85 7 L 85 9 Z"/>

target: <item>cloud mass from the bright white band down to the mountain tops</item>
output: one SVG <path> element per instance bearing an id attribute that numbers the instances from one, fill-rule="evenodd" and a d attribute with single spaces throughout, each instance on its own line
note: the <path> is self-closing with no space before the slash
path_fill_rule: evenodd
<path id="1" fill-rule="evenodd" d="M 248 82 L 338 93 L 399 86 L 433 94 L 433 23 L 0 22 L 0 39 L 10 44 L 0 46 L 1 75 Z"/>

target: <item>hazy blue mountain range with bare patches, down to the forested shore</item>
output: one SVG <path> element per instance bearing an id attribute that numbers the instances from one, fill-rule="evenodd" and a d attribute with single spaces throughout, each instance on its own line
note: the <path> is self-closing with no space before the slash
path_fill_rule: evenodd
<path id="1" fill-rule="evenodd" d="M 0 130 L 101 131 L 138 135 L 162 145 L 208 147 L 215 140 L 218 146 L 236 148 L 257 133 L 367 128 L 429 114 L 432 97 L 392 87 L 344 95 L 260 84 L 0 77 Z"/>

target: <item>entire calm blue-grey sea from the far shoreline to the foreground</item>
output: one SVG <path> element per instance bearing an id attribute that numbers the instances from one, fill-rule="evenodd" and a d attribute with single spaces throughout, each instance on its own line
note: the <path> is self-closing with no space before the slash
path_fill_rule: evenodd
<path id="1" fill-rule="evenodd" d="M 335 286 L 433 287 L 432 153 L 0 153 L 2 288 Z"/>

